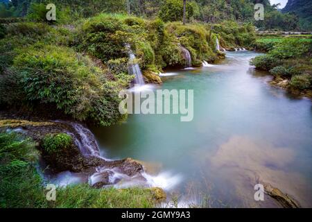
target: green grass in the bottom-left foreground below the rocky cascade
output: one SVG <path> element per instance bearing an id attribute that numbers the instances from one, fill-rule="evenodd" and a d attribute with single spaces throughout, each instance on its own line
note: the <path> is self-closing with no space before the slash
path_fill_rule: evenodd
<path id="1" fill-rule="evenodd" d="M 56 189 L 56 201 L 46 200 L 37 173 L 36 144 L 16 133 L 0 133 L 0 207 L 155 207 L 150 189 L 92 189 L 73 185 Z"/>

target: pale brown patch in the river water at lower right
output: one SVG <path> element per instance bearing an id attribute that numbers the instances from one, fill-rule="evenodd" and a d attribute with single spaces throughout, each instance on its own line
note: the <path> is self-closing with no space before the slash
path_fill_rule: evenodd
<path id="1" fill-rule="evenodd" d="M 289 167 L 294 157 L 291 148 L 234 136 L 211 157 L 211 167 L 212 171 L 228 179 L 236 194 L 243 197 L 245 205 L 257 206 L 254 185 L 270 183 L 307 206 L 311 202 L 311 189 L 306 178 Z"/>

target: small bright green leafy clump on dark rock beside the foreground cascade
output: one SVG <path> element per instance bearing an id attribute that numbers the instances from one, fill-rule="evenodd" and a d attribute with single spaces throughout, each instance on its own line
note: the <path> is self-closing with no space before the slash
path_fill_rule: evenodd
<path id="1" fill-rule="evenodd" d="M 66 151 L 73 146 L 73 139 L 66 133 L 49 134 L 42 139 L 42 148 L 48 154 Z"/>

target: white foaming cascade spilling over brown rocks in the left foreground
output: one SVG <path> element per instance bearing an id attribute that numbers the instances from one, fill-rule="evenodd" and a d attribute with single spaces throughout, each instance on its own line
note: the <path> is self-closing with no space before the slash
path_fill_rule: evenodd
<path id="1" fill-rule="evenodd" d="M 66 133 L 71 135 L 73 142 L 80 149 L 80 152 L 85 157 L 98 157 L 108 162 L 114 162 L 114 160 L 109 160 L 101 157 L 98 144 L 94 137 L 94 134 L 83 124 L 72 122 L 72 121 L 62 121 L 57 120 L 56 123 L 66 124 L 71 126 L 73 130 L 67 130 Z M 172 189 L 181 180 L 182 176 L 172 175 L 171 173 L 159 173 L 157 176 L 151 176 L 144 171 L 141 173 L 135 173 L 132 176 L 128 176 L 125 173 L 127 164 L 119 167 L 96 167 L 96 172 L 94 172 L 87 179 L 84 173 L 71 173 L 65 171 L 59 173 L 53 177 L 53 182 L 58 183 L 62 187 L 66 187 L 71 184 L 79 184 L 81 182 L 87 182 L 90 185 L 96 185 L 101 182 L 108 182 L 110 185 L 116 188 L 128 188 L 128 187 L 161 187 L 162 189 Z"/>

